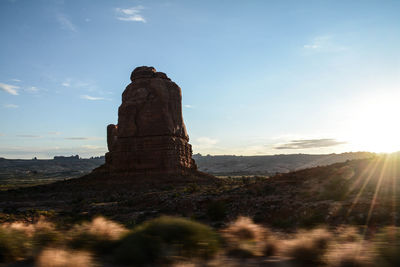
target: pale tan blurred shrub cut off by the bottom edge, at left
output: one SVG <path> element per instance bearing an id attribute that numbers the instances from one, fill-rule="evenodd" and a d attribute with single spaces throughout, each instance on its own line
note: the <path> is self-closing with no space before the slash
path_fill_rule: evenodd
<path id="1" fill-rule="evenodd" d="M 93 258 L 88 252 L 45 249 L 36 259 L 38 267 L 91 267 Z"/>

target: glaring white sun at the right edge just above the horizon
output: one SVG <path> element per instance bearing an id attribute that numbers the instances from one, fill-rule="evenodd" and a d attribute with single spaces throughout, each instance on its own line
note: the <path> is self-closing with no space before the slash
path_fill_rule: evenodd
<path id="1" fill-rule="evenodd" d="M 400 97 L 381 95 L 360 100 L 346 118 L 343 133 L 354 150 L 400 150 Z"/>

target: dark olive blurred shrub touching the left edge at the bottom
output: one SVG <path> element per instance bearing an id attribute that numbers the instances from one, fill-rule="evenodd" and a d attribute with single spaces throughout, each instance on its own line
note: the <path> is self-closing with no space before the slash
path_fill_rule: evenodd
<path id="1" fill-rule="evenodd" d="M 30 238 L 24 231 L 0 227 L 0 262 L 24 259 L 30 248 Z"/>

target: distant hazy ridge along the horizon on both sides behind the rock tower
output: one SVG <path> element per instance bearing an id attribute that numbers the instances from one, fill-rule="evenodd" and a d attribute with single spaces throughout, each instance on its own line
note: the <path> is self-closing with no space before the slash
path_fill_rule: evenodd
<path id="1" fill-rule="evenodd" d="M 271 156 L 193 156 L 200 171 L 213 175 L 264 175 L 329 165 L 352 159 L 370 158 L 375 154 L 354 152 L 329 155 Z M 82 159 L 76 156 L 51 160 L 19 160 L 0 158 L 0 185 L 3 188 L 27 186 L 77 178 L 104 163 L 104 157 Z"/>

